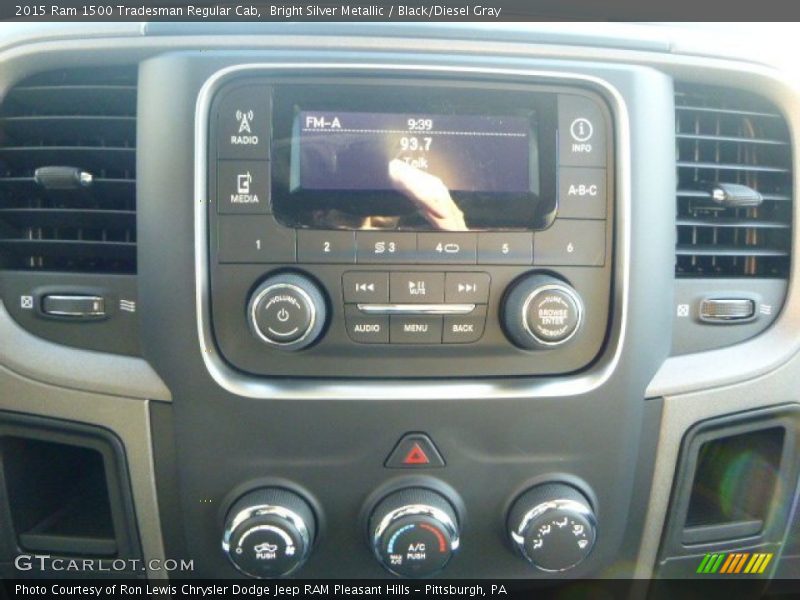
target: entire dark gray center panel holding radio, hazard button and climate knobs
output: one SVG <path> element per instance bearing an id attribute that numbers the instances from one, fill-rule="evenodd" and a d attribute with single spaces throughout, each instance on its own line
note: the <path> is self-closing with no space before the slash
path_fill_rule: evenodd
<path id="1" fill-rule="evenodd" d="M 652 119 L 673 114 L 671 82 L 624 65 L 477 63 L 142 63 L 137 139 L 156 149 L 137 171 L 142 347 L 173 395 L 152 414 L 156 467 L 174 445 L 180 474 L 159 470 L 165 544 L 193 576 L 632 573 L 659 425 L 643 398 L 670 345 L 672 228 L 648 224 L 674 218 L 674 123 Z M 334 117 L 379 131 L 317 131 Z M 598 137 L 570 156 L 581 119 Z M 516 142 L 439 148 L 429 120 Z M 296 125 L 313 139 L 293 146 Z M 469 177 L 434 172 L 443 158 Z M 482 165 L 500 162 L 498 183 Z M 320 180 L 309 164 L 347 168 Z M 602 203 L 570 207 L 558 190 L 576 170 L 575 189 L 604 190 Z M 415 187 L 426 173 L 435 203 Z"/>

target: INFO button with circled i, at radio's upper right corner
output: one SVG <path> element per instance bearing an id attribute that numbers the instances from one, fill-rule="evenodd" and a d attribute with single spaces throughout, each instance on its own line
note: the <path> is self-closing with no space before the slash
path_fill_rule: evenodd
<path id="1" fill-rule="evenodd" d="M 558 96 L 559 164 L 569 167 L 606 165 L 605 120 L 589 98 Z"/>

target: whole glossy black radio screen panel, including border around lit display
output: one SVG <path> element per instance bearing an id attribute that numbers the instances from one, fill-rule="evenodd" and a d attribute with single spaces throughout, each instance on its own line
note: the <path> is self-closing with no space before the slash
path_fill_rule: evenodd
<path id="1" fill-rule="evenodd" d="M 287 226 L 541 229 L 554 94 L 452 84 L 276 86 L 272 203 Z"/>

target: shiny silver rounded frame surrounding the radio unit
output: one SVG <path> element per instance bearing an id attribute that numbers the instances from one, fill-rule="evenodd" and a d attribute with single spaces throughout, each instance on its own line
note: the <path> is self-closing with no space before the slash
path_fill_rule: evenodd
<path id="1" fill-rule="evenodd" d="M 209 295 L 208 253 L 208 156 L 209 114 L 214 93 L 233 75 L 269 73 L 297 74 L 303 71 L 326 70 L 346 73 L 403 73 L 403 74 L 459 74 L 511 78 L 535 78 L 556 82 L 578 82 L 601 88 L 611 101 L 616 121 L 616 185 L 617 229 L 616 261 L 611 320 L 610 342 L 598 364 L 582 374 L 571 377 L 516 378 L 504 380 L 458 380 L 415 382 L 408 380 L 303 380 L 267 379 L 244 375 L 225 362 L 217 351 L 211 329 Z M 247 398 L 271 399 L 397 399 L 415 398 L 486 398 L 486 397 L 564 397 L 588 393 L 603 385 L 613 374 L 622 355 L 626 337 L 629 305 L 630 265 L 630 120 L 625 100 L 607 81 L 594 76 L 547 70 L 507 69 L 491 67 L 439 66 L 427 64 L 387 63 L 256 63 L 234 65 L 220 69 L 206 80 L 198 94 L 195 111 L 195 297 L 197 302 L 197 332 L 203 362 L 211 377 L 223 389 Z"/>

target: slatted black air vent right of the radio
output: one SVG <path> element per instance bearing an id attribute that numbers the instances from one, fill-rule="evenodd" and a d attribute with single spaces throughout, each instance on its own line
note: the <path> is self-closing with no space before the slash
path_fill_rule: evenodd
<path id="1" fill-rule="evenodd" d="M 786 278 L 792 148 L 775 106 L 746 92 L 679 85 L 678 277 Z"/>

